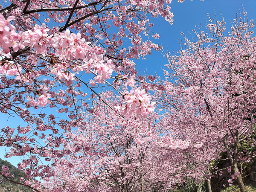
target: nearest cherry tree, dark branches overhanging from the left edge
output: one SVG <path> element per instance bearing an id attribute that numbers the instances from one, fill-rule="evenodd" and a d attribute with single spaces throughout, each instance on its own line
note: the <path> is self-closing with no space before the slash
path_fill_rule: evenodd
<path id="1" fill-rule="evenodd" d="M 11 0 L 10 3 L 1 5 L 0 10 L 0 111 L 19 116 L 26 125 L 2 128 L 0 146 L 9 147 L 5 157 L 23 158 L 18 167 L 26 177 L 41 177 L 47 183 L 57 177 L 52 168 L 55 164 L 41 160 L 52 162 L 72 156 L 70 162 L 74 161 L 76 151 L 70 151 L 65 143 L 72 146 L 76 143 L 73 131 L 84 123 L 84 113 L 95 112 L 96 97 L 120 121 L 132 115 L 135 119 L 143 118 L 154 111 L 155 103 L 148 88 L 136 85 L 137 71 L 131 59 L 144 58 L 152 49 L 160 50 L 150 40 L 159 35 L 151 32 L 153 23 L 147 17 L 160 15 L 172 24 L 171 1 Z M 103 84 L 117 91 L 119 102 L 105 101 L 108 88 L 95 89 Z M 150 150 L 156 149 L 151 146 Z M 135 152 L 137 156 L 143 154 Z M 145 170 L 142 167 L 138 166 L 136 170 L 140 172 L 134 173 L 148 172 L 149 166 Z M 1 175 L 8 179 L 5 168 Z M 140 177 L 136 177 L 136 182 Z M 19 184 L 35 191 L 45 190 L 37 180 L 20 180 Z M 122 185 L 125 189 L 130 187 Z"/>

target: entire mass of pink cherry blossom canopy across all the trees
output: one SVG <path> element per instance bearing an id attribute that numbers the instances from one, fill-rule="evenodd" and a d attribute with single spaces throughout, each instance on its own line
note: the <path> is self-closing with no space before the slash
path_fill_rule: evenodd
<path id="1" fill-rule="evenodd" d="M 5 157 L 22 157 L 22 173 L 1 160 L 6 181 L 37 192 L 164 192 L 206 180 L 211 192 L 227 154 L 228 182 L 246 191 L 239 162 L 256 155 L 242 147 L 256 145 L 247 12 L 230 31 L 209 17 L 173 55 L 149 35 L 150 17 L 172 24 L 171 0 L 10 2 L 0 10 L 0 111 L 26 125 L 1 129 Z M 135 68 L 152 49 L 169 61 L 164 79 Z"/>

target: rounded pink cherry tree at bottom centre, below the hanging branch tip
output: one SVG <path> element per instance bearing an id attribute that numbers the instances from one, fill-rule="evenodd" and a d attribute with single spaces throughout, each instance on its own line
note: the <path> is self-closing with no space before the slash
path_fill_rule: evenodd
<path id="1" fill-rule="evenodd" d="M 108 103 L 119 100 L 110 91 L 101 96 Z M 67 152 L 53 157 L 51 169 L 42 175 L 48 190 L 163 191 L 180 182 L 171 161 L 175 157 L 161 155 L 165 150 L 156 144 L 163 133 L 162 122 L 157 121 L 161 115 L 143 118 L 135 113 L 122 118 L 102 101 L 93 105 L 92 111 L 84 113 L 84 121 L 74 118 L 61 125 L 76 126 L 76 131 L 64 133 Z"/>

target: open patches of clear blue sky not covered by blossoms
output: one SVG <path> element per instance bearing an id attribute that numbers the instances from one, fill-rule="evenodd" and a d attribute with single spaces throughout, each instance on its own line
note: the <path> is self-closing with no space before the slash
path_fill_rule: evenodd
<path id="1" fill-rule="evenodd" d="M 183 3 L 172 0 L 171 11 L 175 15 L 173 25 L 169 25 L 162 17 L 150 18 L 150 22 L 154 23 L 154 27 L 152 28 L 153 32 L 160 35 L 160 39 L 154 40 L 154 42 L 162 44 L 165 50 L 167 50 L 168 46 L 171 52 L 179 50 L 180 46 L 177 39 L 182 38 L 180 32 L 184 32 L 184 34 L 189 37 L 188 32 L 192 32 L 192 30 L 196 28 L 195 26 L 200 25 L 200 23 L 203 26 L 203 30 L 205 30 L 206 19 L 208 20 L 207 13 L 215 18 L 216 12 L 217 20 L 222 20 L 221 15 L 223 15 L 227 23 L 227 31 L 229 31 L 231 22 L 236 16 L 236 13 L 239 13 L 239 10 L 242 11 L 242 4 L 245 11 L 247 11 L 248 19 L 256 19 L 256 0 L 204 0 L 203 2 L 200 0 L 185 0 Z M 167 60 L 163 58 L 162 53 L 154 51 L 151 55 L 146 56 L 145 60 L 140 59 L 134 61 L 137 64 L 137 70 L 140 70 L 142 74 L 144 71 L 147 71 L 147 74 L 154 74 L 156 72 L 158 76 L 163 76 L 161 67 L 164 68 L 164 64 L 167 64 Z M 10 127 L 23 125 L 23 122 L 21 120 L 19 121 L 18 118 L 10 117 L 8 121 L 7 118 L 7 115 L 0 113 L 0 128 L 7 125 Z M 3 157 L 4 154 L 4 148 L 1 147 L 0 158 L 10 161 L 15 166 L 17 166 L 17 163 L 21 162 L 20 157 L 5 159 Z"/>

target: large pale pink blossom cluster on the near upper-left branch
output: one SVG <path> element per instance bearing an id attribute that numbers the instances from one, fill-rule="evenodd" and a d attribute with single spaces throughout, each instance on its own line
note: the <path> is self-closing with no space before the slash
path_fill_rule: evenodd
<path id="1" fill-rule="evenodd" d="M 93 73 L 96 75 L 96 82 L 103 83 L 105 79 L 109 79 L 113 72 L 113 65 L 111 60 L 105 60 L 103 54 L 104 49 L 98 46 L 90 45 L 90 42 L 86 42 L 84 38 L 81 38 L 81 34 L 70 33 L 70 30 L 66 30 L 62 33 L 55 33 L 54 35 L 48 35 L 49 29 L 45 23 L 41 26 L 35 25 L 33 30 L 27 30 L 25 32 L 15 32 L 15 27 L 9 22 L 15 17 L 9 16 L 7 20 L 0 14 L 0 54 L 5 54 L 7 58 L 11 58 L 10 47 L 14 52 L 24 47 L 30 47 L 35 49 L 36 54 L 43 56 L 49 54 L 49 47 L 55 51 L 52 54 L 51 64 L 52 68 L 49 68 L 50 74 L 58 77 L 59 80 L 69 81 L 73 80 L 75 71 L 86 71 L 91 73 L 91 69 L 94 69 Z M 80 63 L 71 64 L 70 60 L 80 60 Z M 34 64 L 36 65 L 36 64 Z M 0 67 L 1 74 L 7 74 L 15 76 L 16 79 L 22 79 L 26 83 L 32 83 L 32 78 L 40 76 L 39 71 L 26 71 L 22 73 L 19 64 L 12 64 L 4 61 Z"/>

